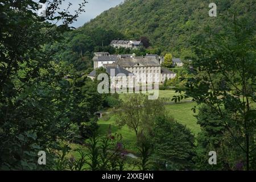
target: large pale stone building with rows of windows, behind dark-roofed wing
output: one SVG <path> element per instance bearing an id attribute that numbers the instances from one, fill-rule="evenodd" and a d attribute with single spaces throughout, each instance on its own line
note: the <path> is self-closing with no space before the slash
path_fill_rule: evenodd
<path id="1" fill-rule="evenodd" d="M 164 82 L 167 79 L 176 77 L 174 72 L 167 68 L 161 68 L 161 57 L 158 55 L 146 55 L 137 57 L 133 55 L 110 55 L 108 52 L 96 52 L 93 57 L 94 69 L 104 67 L 107 72 L 111 69 L 118 68 L 117 73 L 131 73 L 138 83 Z M 127 72 L 126 72 L 127 71 Z M 95 71 L 90 73 L 90 77 L 94 78 Z M 146 80 L 146 81 L 145 81 Z"/>

